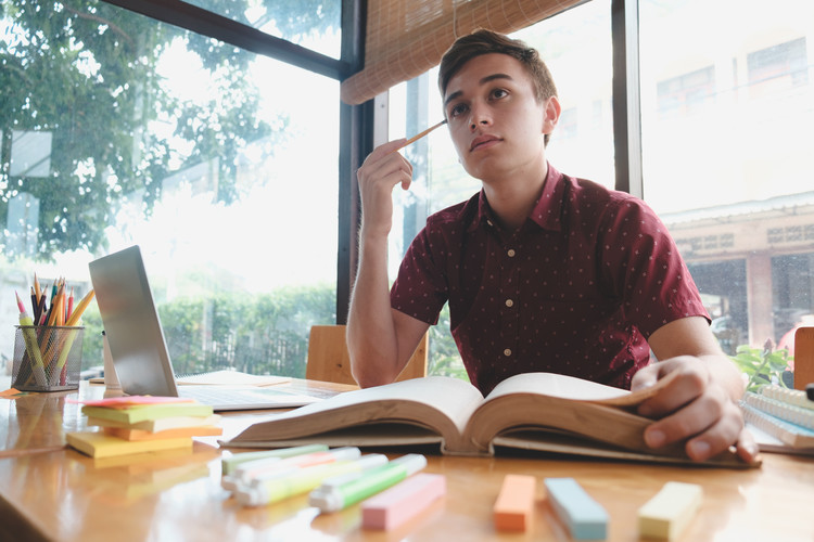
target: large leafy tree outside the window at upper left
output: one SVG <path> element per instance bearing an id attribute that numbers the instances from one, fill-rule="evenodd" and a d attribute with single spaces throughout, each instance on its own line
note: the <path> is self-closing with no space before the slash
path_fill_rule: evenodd
<path id="1" fill-rule="evenodd" d="M 254 3 L 213 0 L 207 7 L 247 22 Z M 266 0 L 263 17 L 292 36 L 339 21 L 339 2 L 278 3 Z M 245 77 L 254 56 L 232 46 L 99 0 L 3 0 L 2 23 L 0 218 L 17 194 L 39 199 L 39 258 L 99 251 L 123 197 L 140 192 L 149 216 L 171 171 L 212 157 L 218 158 L 217 199 L 229 204 L 239 197 L 241 150 L 282 137 L 284 118 L 258 120 L 259 96 Z M 162 55 L 179 40 L 212 74 L 216 98 L 181 100 L 157 75 Z M 171 133 L 152 129 L 156 124 L 171 126 Z M 12 168 L 15 133 L 51 134 L 47 173 Z"/>

